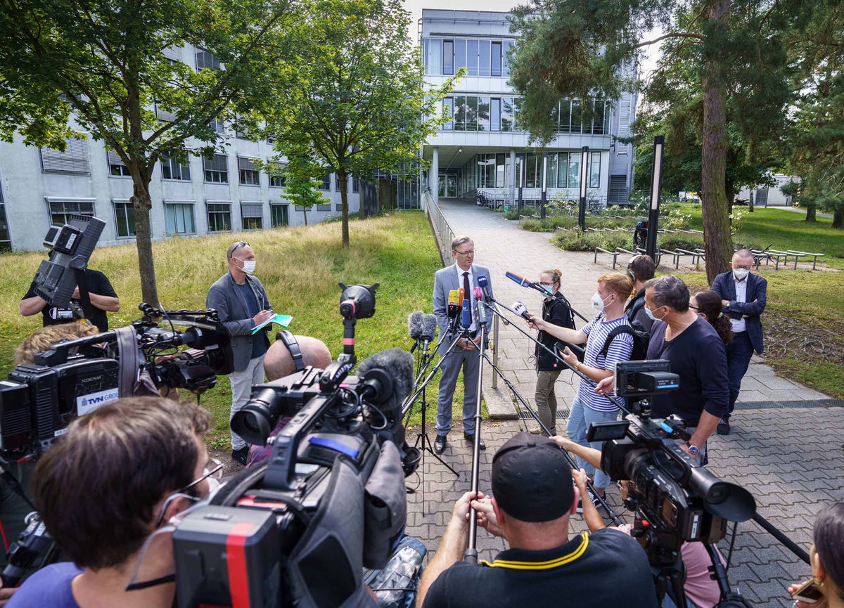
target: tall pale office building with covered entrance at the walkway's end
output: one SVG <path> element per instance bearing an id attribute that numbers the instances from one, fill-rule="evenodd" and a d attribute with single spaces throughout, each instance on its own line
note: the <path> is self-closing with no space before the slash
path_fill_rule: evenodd
<path id="1" fill-rule="evenodd" d="M 519 98 L 507 84 L 507 51 L 517 39 L 510 32 L 508 13 L 423 9 L 419 37 L 425 78 L 441 85 L 461 67 L 466 76 L 443 101 L 451 117 L 426 143 L 430 161 L 426 183 L 437 197 L 473 196 L 484 191 L 513 201 L 523 172 L 523 197 L 538 199 L 544 156 L 528 146 L 527 133 L 516 117 Z M 592 105 L 592 118 L 582 116 Z M 632 187 L 633 150 L 613 136 L 630 135 L 636 94 L 618 100 L 562 100 L 554 117 L 557 136 L 549 143 L 548 200 L 579 197 L 582 148 L 587 146 L 587 200 L 624 203 Z M 522 164 L 524 165 L 522 167 Z"/>

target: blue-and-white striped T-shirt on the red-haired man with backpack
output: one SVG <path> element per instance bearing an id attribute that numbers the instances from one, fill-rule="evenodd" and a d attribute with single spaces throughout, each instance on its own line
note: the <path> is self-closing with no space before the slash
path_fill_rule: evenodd
<path id="1" fill-rule="evenodd" d="M 583 357 L 584 365 L 590 368 L 614 369 L 615 363 L 630 360 L 630 353 L 633 352 L 633 336 L 630 334 L 619 334 L 615 336 L 613 342 L 609 343 L 606 358 L 604 358 L 601 352 L 603 345 L 607 342 L 609 332 L 619 326 L 630 326 L 630 321 L 627 320 L 626 315 L 621 315 L 615 320 L 605 321 L 603 320 L 602 312 L 598 313 L 598 316 L 582 327 L 581 331 L 588 336 L 586 353 Z M 619 409 L 614 401 L 610 401 L 603 395 L 598 395 L 593 390 L 594 388 L 595 385 L 592 382 L 581 379 L 580 386 L 577 387 L 577 398 L 584 405 L 598 412 L 615 412 Z"/>

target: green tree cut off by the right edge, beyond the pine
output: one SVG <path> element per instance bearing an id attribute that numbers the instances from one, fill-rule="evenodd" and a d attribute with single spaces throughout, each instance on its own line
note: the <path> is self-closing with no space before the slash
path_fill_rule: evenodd
<path id="1" fill-rule="evenodd" d="M 806 35 L 793 36 L 789 46 L 799 67 L 789 164 L 800 181 L 782 191 L 806 207 L 807 222 L 820 208 L 833 214 L 832 228 L 844 228 L 844 6 L 816 0 L 804 10 L 810 15 Z"/>

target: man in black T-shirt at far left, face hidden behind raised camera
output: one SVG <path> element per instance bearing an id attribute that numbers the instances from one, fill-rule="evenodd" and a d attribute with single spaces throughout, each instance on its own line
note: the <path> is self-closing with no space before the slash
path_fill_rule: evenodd
<path id="1" fill-rule="evenodd" d="M 89 321 L 100 328 L 100 331 L 108 331 L 106 312 L 116 313 L 120 310 L 120 299 L 105 274 L 90 268 L 86 268 L 84 272 L 85 281 L 88 282 L 88 293 L 92 308 Z M 71 302 L 75 309 L 79 310 L 81 300 L 79 299 L 78 286 L 71 296 Z M 46 299 L 35 293 L 35 281 L 30 284 L 30 290 L 24 294 L 18 306 L 20 314 L 24 317 L 41 313 L 44 326 L 71 323 L 78 320 L 78 316 L 73 312 L 73 309 L 47 304 Z"/>

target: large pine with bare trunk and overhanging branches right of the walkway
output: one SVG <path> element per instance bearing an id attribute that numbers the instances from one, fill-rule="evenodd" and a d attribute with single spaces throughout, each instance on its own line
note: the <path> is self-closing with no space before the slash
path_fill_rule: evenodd
<path id="1" fill-rule="evenodd" d="M 754 130 L 781 120 L 788 91 L 781 32 L 800 24 L 798 3 L 767 0 L 529 0 L 515 11 L 513 29 L 522 35 L 511 58 L 511 83 L 524 100 L 520 121 L 540 143 L 553 135 L 551 109 L 560 97 L 617 99 L 633 82 L 641 48 L 666 40 L 653 87 L 676 84 L 678 68 L 694 78 L 700 105 L 701 201 L 706 274 L 711 281 L 733 255 L 728 218 L 728 108 L 744 107 L 733 127 L 756 145 Z M 644 34 L 660 25 L 654 40 Z M 684 106 L 686 106 L 684 104 Z M 686 106 L 687 107 L 687 106 Z M 678 120 L 684 107 L 660 106 Z M 674 111 L 676 110 L 676 111 Z"/>

